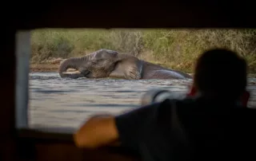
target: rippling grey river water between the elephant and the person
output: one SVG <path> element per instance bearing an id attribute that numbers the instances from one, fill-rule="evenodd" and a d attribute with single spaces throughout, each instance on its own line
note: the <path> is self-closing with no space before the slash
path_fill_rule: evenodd
<path id="1" fill-rule="evenodd" d="M 256 77 L 249 78 L 249 107 L 256 106 Z M 61 78 L 58 73 L 30 73 L 30 128 L 78 128 L 88 116 L 117 115 L 138 108 L 151 88 L 185 94 L 191 80 L 116 80 Z"/>

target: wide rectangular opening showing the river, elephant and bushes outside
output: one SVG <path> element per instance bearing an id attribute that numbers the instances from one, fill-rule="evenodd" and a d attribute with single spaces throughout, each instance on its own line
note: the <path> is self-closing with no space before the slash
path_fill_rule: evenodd
<path id="1" fill-rule="evenodd" d="M 249 106 L 254 108 L 255 41 L 256 29 L 35 29 L 18 32 L 17 127 L 67 131 L 78 128 L 96 113 L 118 115 L 138 108 L 142 95 L 151 88 L 167 89 L 175 96 L 184 95 L 190 78 L 165 78 L 193 76 L 195 59 L 203 50 L 213 47 L 234 49 L 246 57 L 250 67 Z M 100 49 L 108 51 L 88 56 Z M 122 57 L 118 60 L 120 56 L 114 52 L 138 60 L 122 61 Z M 70 57 L 75 58 L 67 61 Z M 86 58 L 79 60 L 78 57 Z M 134 61 L 146 61 L 158 69 L 148 68 L 145 72 Z M 67 71 L 61 77 L 58 71 L 62 63 L 66 63 L 63 70 Z"/>

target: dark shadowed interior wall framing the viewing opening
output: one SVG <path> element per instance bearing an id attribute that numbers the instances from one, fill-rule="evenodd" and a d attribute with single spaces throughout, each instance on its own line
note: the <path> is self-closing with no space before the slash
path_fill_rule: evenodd
<path id="1" fill-rule="evenodd" d="M 42 3 L 42 2 L 41 2 Z M 61 128 L 27 128 L 31 29 L 255 28 L 252 5 L 234 2 L 69 2 L 8 5 L 3 26 L 0 160 L 140 160 L 118 146 L 75 147 Z M 145 5 L 146 4 L 146 5 Z M 244 11 L 241 11 L 244 10 Z M 8 19 L 7 19 L 8 18 Z M 3 60 L 4 60 L 3 59 Z"/>

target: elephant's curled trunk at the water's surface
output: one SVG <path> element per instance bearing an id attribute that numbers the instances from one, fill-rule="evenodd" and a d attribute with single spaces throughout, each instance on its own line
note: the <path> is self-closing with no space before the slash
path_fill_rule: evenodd
<path id="1" fill-rule="evenodd" d="M 66 74 L 67 69 L 76 69 L 78 70 L 79 67 L 82 65 L 82 58 L 80 57 L 71 57 L 66 59 L 62 62 L 62 64 L 58 68 L 58 73 L 60 77 L 70 77 L 70 78 L 78 78 L 84 77 L 82 73 L 74 73 L 74 74 Z"/>

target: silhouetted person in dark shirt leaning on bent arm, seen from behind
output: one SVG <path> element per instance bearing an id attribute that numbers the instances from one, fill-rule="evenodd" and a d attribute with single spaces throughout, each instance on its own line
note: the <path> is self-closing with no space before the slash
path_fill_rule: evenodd
<path id="1" fill-rule="evenodd" d="M 249 159 L 256 116 L 246 108 L 246 69 L 236 53 L 210 49 L 198 57 L 185 99 L 167 99 L 120 116 L 94 116 L 74 135 L 75 143 L 101 147 L 120 142 L 143 160 Z"/>

